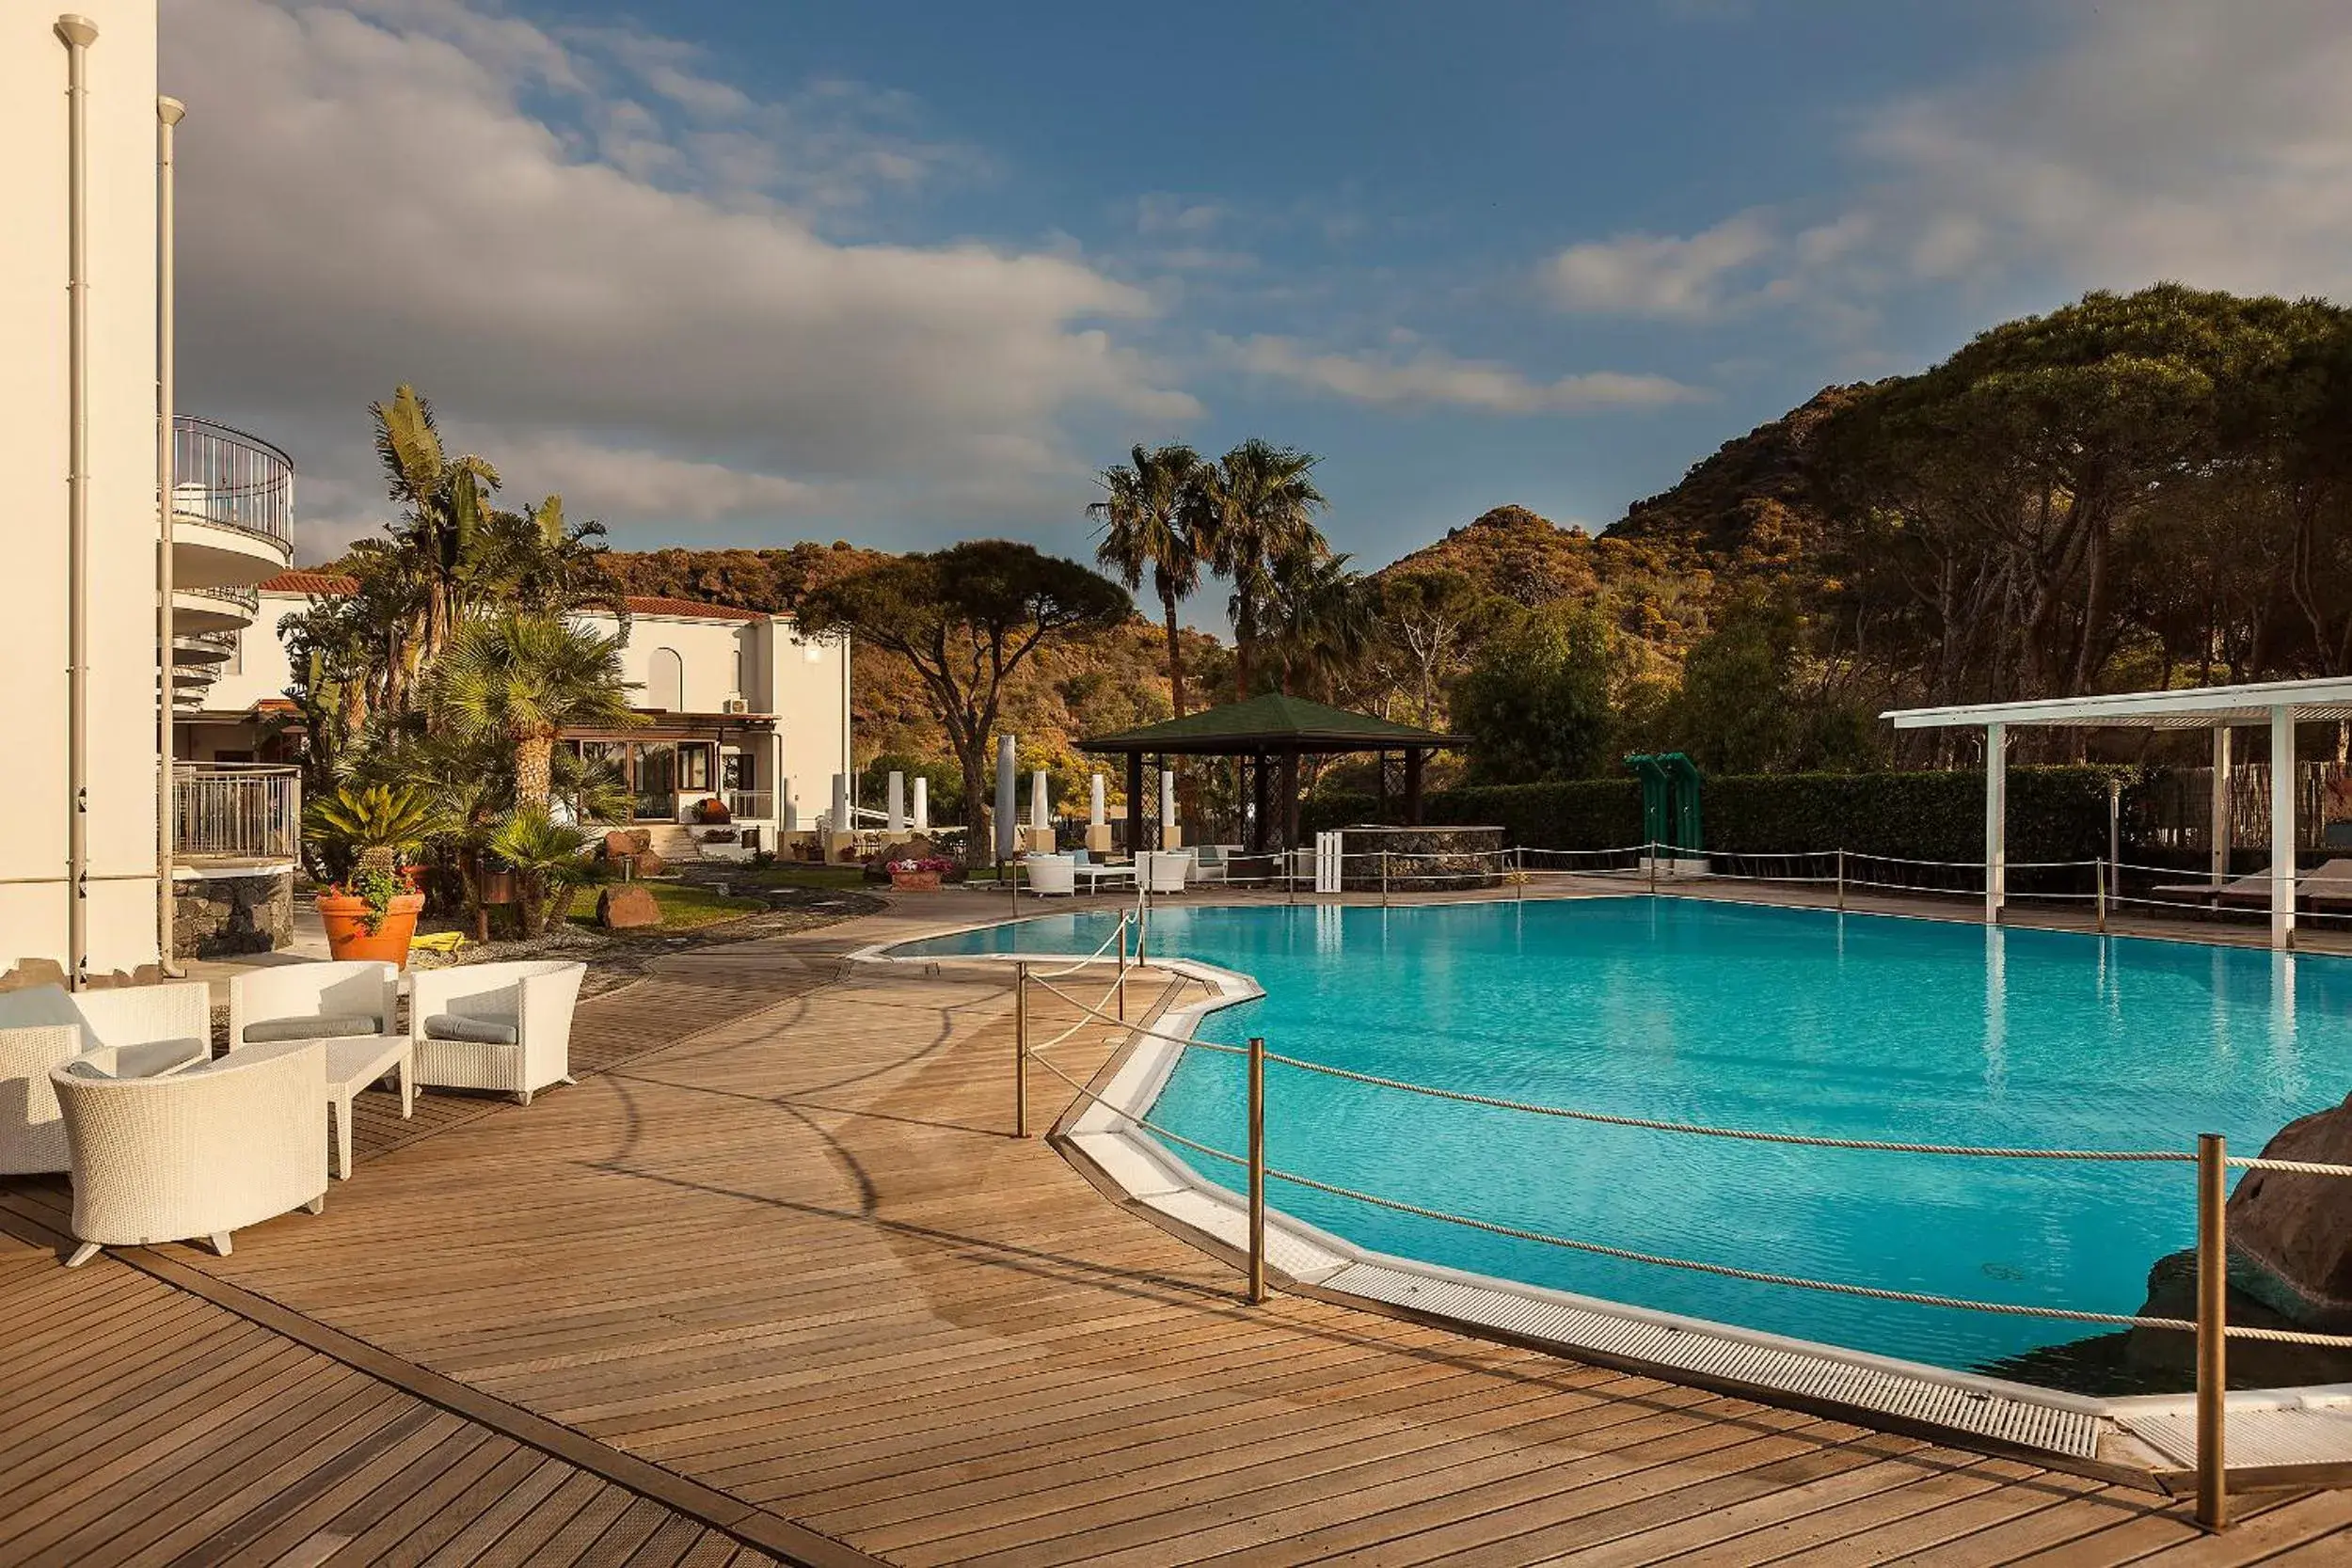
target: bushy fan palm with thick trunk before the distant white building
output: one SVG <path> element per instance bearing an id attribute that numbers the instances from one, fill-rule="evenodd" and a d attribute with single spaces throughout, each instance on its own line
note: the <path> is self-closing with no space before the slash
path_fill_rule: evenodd
<path id="1" fill-rule="evenodd" d="M 433 719 L 456 738 L 515 748 L 515 804 L 546 809 L 555 736 L 640 724 L 621 679 L 621 644 L 562 616 L 468 621 L 433 668 Z"/>

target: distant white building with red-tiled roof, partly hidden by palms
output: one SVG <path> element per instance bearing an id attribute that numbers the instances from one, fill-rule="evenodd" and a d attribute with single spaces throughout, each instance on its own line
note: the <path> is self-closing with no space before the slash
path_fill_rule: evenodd
<path id="1" fill-rule="evenodd" d="M 325 571 L 261 583 L 259 614 L 230 639 L 200 705 L 183 712 L 183 759 L 235 769 L 289 755 L 289 738 L 270 724 L 292 715 L 285 691 L 294 682 L 278 623 L 341 592 L 350 581 Z M 833 776 L 849 771 L 849 642 L 802 637 L 793 616 L 694 599 L 626 604 L 626 625 L 607 611 L 576 618 L 623 639 L 621 665 L 644 722 L 567 731 L 564 743 L 621 769 L 640 823 L 691 823 L 701 802 L 720 799 L 739 837 L 748 827 L 762 849 L 776 846 L 786 802 L 800 827 L 814 825 Z M 666 837 L 670 851 L 687 849 L 684 835 Z"/>

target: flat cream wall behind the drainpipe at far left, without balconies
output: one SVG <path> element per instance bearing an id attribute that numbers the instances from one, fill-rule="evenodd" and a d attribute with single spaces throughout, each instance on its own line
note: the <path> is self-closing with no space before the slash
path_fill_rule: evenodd
<path id="1" fill-rule="evenodd" d="M 89 47 L 89 966 L 155 961 L 155 0 L 0 0 L 0 973 L 66 961 L 66 45 Z M 56 877 L 56 882 L 47 882 Z"/>

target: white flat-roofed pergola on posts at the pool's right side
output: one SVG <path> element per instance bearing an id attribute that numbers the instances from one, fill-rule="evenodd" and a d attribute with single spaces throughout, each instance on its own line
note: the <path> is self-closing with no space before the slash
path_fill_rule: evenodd
<path id="1" fill-rule="evenodd" d="M 1898 708 L 1879 715 L 1896 729 L 1985 731 L 1985 924 L 1999 922 L 2009 882 L 2009 731 L 2039 729 L 2209 729 L 2213 731 L 2213 882 L 2227 882 L 2230 729 L 2270 726 L 2270 945 L 2296 940 L 2296 724 L 2352 719 L 2352 677 L 2119 691 L 2032 703 Z"/>

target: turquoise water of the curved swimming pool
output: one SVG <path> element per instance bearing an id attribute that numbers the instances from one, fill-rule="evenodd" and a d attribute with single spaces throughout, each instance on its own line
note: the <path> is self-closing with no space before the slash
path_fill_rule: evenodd
<path id="1" fill-rule="evenodd" d="M 1087 952 L 1061 914 L 896 952 Z M 1830 1138 L 2251 1154 L 2352 1091 L 2352 961 L 1689 898 L 1152 910 L 1152 950 L 1268 994 L 1200 1037 L 1444 1088 Z M 1155 1107 L 1244 1147 L 1244 1077 L 1190 1051 Z M 2136 1312 L 2194 1239 L 2190 1166 L 1682 1138 L 1268 1070 L 1270 1161 L 1526 1229 L 1816 1279 Z M 1174 1150 L 1237 1185 L 1221 1161 Z M 1616 1262 L 1272 1182 L 1352 1241 L 1771 1333 L 1983 1368 L 2098 1333 Z"/>

